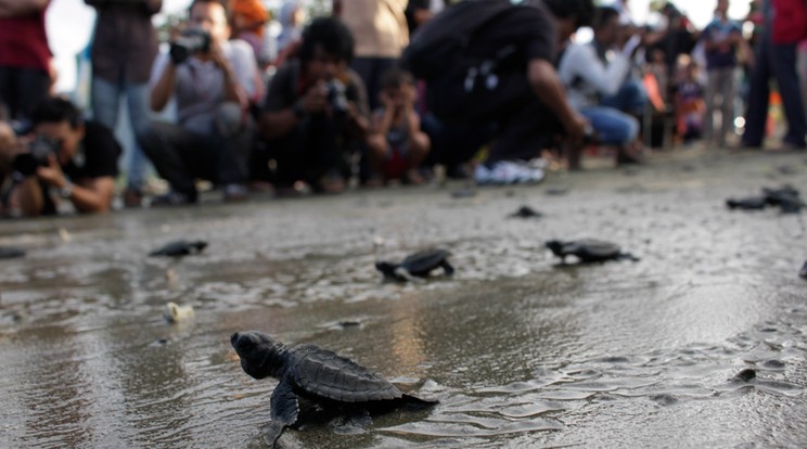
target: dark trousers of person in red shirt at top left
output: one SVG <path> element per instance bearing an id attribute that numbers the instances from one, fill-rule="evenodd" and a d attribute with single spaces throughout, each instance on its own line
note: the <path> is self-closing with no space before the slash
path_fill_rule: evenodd
<path id="1" fill-rule="evenodd" d="M 12 119 L 27 119 L 49 91 L 50 76 L 44 70 L 0 67 L 0 103 L 9 108 Z"/>

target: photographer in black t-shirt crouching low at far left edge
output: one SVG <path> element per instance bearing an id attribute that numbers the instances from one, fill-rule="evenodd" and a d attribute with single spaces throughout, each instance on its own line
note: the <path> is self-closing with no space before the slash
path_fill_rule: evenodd
<path id="1" fill-rule="evenodd" d="M 3 145 L 13 157 L 13 195 L 25 216 L 54 215 L 59 201 L 79 213 L 110 210 L 120 145 L 101 124 L 82 121 L 69 101 L 48 98 L 31 112 L 33 134 Z"/>

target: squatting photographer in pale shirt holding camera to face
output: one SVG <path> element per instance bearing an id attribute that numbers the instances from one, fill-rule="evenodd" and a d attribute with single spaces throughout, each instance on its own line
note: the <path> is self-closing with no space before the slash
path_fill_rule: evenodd
<path id="1" fill-rule="evenodd" d="M 254 124 L 248 98 L 257 90 L 257 65 L 248 43 L 228 40 L 227 3 L 194 0 L 189 28 L 155 63 L 151 105 L 162 111 L 171 97 L 178 124 L 152 123 L 140 145 L 171 191 L 154 206 L 193 204 L 196 178 L 223 188 L 225 201 L 246 197 L 246 159 Z"/>

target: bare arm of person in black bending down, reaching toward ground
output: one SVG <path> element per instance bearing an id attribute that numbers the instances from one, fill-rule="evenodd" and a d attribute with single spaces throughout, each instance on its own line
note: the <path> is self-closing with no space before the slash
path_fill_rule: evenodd
<path id="1" fill-rule="evenodd" d="M 566 91 L 558 73 L 549 61 L 531 60 L 527 67 L 527 80 L 538 99 L 560 119 L 573 142 L 581 142 L 588 121 L 566 100 Z"/>

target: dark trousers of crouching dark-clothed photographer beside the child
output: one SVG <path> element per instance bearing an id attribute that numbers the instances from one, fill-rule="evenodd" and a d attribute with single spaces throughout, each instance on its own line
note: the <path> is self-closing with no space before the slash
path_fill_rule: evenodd
<path id="1" fill-rule="evenodd" d="M 292 131 L 267 141 L 278 164 L 276 182 L 289 187 L 299 180 L 317 184 L 329 171 L 340 170 L 348 139 L 345 124 L 325 114 L 310 115 Z"/>

